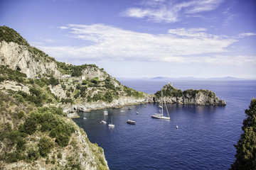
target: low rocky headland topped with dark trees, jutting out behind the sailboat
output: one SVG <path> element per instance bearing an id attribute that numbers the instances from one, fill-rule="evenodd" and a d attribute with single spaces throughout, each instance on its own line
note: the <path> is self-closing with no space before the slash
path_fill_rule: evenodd
<path id="1" fill-rule="evenodd" d="M 213 91 L 209 90 L 193 90 L 188 89 L 181 91 L 172 86 L 172 84 L 166 84 L 161 91 L 164 94 L 164 101 L 166 103 L 180 103 L 180 104 L 193 104 L 193 105 L 219 105 L 225 106 L 226 103 L 220 100 Z M 157 91 L 154 101 L 161 102 L 161 91 Z"/>

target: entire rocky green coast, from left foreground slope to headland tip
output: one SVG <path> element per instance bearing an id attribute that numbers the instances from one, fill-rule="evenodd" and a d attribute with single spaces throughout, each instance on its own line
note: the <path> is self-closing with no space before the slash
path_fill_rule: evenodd
<path id="1" fill-rule="evenodd" d="M 162 91 L 167 103 L 226 104 L 213 91 L 181 91 L 172 84 Z M 95 64 L 58 62 L 6 26 L 0 27 L 0 94 L 2 169 L 108 169 L 103 149 L 70 118 L 77 111 L 160 98 L 159 91 L 151 95 L 123 86 Z"/>

